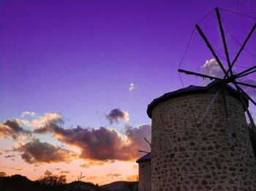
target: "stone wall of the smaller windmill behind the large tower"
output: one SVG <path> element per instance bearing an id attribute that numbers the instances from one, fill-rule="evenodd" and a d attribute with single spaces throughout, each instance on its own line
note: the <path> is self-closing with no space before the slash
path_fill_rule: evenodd
<path id="1" fill-rule="evenodd" d="M 151 160 L 139 163 L 139 191 L 151 191 Z"/>

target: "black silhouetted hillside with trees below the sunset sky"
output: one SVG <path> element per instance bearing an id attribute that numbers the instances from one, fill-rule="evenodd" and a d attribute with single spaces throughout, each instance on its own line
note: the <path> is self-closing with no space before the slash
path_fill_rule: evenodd
<path id="1" fill-rule="evenodd" d="M 118 186 L 117 186 L 118 185 Z M 1 191 L 136 191 L 138 182 L 118 182 L 110 183 L 99 187 L 91 182 L 75 181 L 67 183 L 66 176 L 42 176 L 36 181 L 31 181 L 26 176 L 15 174 L 12 176 L 0 177 Z"/>

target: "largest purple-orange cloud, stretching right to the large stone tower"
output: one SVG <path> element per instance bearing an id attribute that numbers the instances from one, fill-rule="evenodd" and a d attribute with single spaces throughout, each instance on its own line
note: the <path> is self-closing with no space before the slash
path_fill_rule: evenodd
<path id="1" fill-rule="evenodd" d="M 148 144 L 143 136 L 151 134 L 150 125 L 140 125 L 132 128 L 127 125 L 125 128 L 126 139 L 123 139 L 116 130 L 108 128 L 77 128 L 65 129 L 58 125 L 50 124 L 42 130 L 35 130 L 37 133 L 53 133 L 61 142 L 70 146 L 78 147 L 81 151 L 80 158 L 86 160 L 133 160 L 141 154 L 138 149 L 148 149 Z M 149 140 L 150 141 L 150 140 Z M 83 165 L 88 168 L 90 163 Z"/>

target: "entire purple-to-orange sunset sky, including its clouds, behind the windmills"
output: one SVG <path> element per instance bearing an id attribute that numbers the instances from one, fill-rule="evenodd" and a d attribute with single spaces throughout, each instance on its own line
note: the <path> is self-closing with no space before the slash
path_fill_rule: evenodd
<path id="1" fill-rule="evenodd" d="M 150 151 L 147 106 L 182 88 L 189 37 L 215 7 L 233 60 L 256 22 L 256 1 L 0 0 L 0 172 L 68 182 L 83 172 L 97 184 L 138 175 L 137 150 Z M 199 25 L 227 67 L 215 12 Z M 256 32 L 245 49 L 236 72 L 255 65 Z M 181 69 L 222 76 L 197 31 Z"/>

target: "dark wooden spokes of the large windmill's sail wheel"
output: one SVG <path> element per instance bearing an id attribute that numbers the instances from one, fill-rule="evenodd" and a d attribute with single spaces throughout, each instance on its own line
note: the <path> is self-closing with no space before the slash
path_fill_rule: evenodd
<path id="1" fill-rule="evenodd" d="M 197 127 L 200 127 L 200 125 L 203 124 L 203 121 L 206 118 L 206 116 L 208 114 L 208 111 L 211 109 L 211 106 L 214 104 L 214 101 L 218 97 L 219 93 L 222 94 L 222 98 L 223 98 L 223 108 L 225 110 L 225 117 L 227 119 L 227 126 L 230 125 L 229 115 L 228 115 L 228 112 L 227 112 L 227 99 L 226 99 L 224 87 L 231 83 L 236 87 L 236 90 L 237 90 L 237 92 L 239 94 L 239 97 L 240 97 L 240 101 L 243 104 L 244 111 L 246 111 L 246 114 L 249 117 L 251 126 L 252 126 L 253 130 L 256 133 L 255 123 L 252 119 L 252 115 L 250 114 L 249 110 L 247 109 L 246 103 L 244 102 L 243 98 L 248 99 L 255 106 L 256 106 L 256 102 L 242 89 L 242 87 L 240 87 L 240 85 L 243 85 L 243 86 L 246 86 L 246 87 L 255 88 L 256 85 L 251 85 L 251 84 L 247 84 L 247 83 L 238 81 L 238 79 L 241 79 L 241 77 L 245 77 L 249 74 L 255 73 L 256 72 L 256 66 L 252 66 L 249 69 L 241 71 L 238 74 L 234 74 L 234 72 L 233 72 L 233 66 L 236 63 L 236 61 L 238 60 L 238 57 L 241 54 L 241 52 L 244 50 L 244 47 L 245 47 L 246 43 L 248 42 L 249 38 L 252 36 L 253 31 L 255 31 L 256 23 L 254 24 L 254 26 L 252 26 L 251 31 L 249 31 L 249 34 L 246 36 L 246 39 L 244 40 L 244 43 L 241 45 L 241 48 L 238 51 L 234 60 L 230 61 L 230 55 L 229 55 L 228 50 L 227 50 L 227 43 L 226 43 L 226 39 L 225 39 L 225 33 L 224 33 L 224 30 L 223 30 L 223 27 L 222 27 L 222 19 L 221 19 L 220 14 L 219 14 L 219 8 L 215 8 L 215 11 L 217 13 L 219 29 L 220 29 L 220 32 L 222 34 L 222 42 L 223 42 L 223 45 L 224 45 L 224 48 L 225 48 L 225 55 L 226 55 L 226 58 L 227 58 L 227 65 L 228 65 L 227 70 L 224 68 L 223 63 L 219 60 L 216 52 L 214 52 L 214 48 L 211 46 L 210 42 L 206 38 L 206 35 L 201 30 L 200 26 L 197 24 L 195 26 L 195 28 L 197 28 L 197 31 L 199 32 L 200 36 L 203 38 L 204 42 L 206 42 L 207 47 L 209 48 L 211 53 L 214 55 L 214 58 L 216 59 L 217 63 L 219 64 L 219 67 L 222 69 L 225 76 L 223 78 L 212 77 L 212 76 L 209 76 L 209 75 L 200 74 L 200 73 L 196 73 L 196 72 L 193 72 L 193 71 L 186 71 L 186 70 L 183 70 L 183 69 L 178 69 L 178 72 L 181 72 L 181 73 L 184 73 L 184 74 L 189 74 L 189 75 L 195 75 L 197 77 L 203 77 L 203 78 L 206 78 L 206 79 L 217 80 L 219 82 L 219 89 L 217 90 L 217 93 L 215 93 L 214 97 L 212 98 L 211 103 L 206 108 L 206 111 L 203 113 L 202 117 L 200 117 L 200 120 L 197 122 Z"/>

